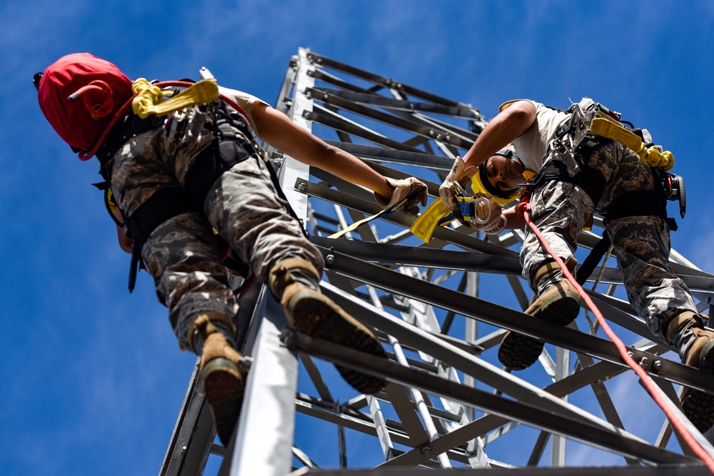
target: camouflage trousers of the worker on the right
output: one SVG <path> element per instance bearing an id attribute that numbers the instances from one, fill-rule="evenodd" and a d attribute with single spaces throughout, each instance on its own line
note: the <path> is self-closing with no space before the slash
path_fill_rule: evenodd
<path id="1" fill-rule="evenodd" d="M 557 160 L 557 157 L 552 157 Z M 650 167 L 621 144 L 610 142 L 593 149 L 588 165 L 598 169 L 605 179 L 605 191 L 598 204 L 593 204 L 587 193 L 570 182 L 553 180 L 537 187 L 531 197 L 534 224 L 550 247 L 565 260 L 577 248 L 578 232 L 585 226 L 593 211 L 604 212 L 622 194 L 634 190 L 652 190 L 654 177 Z M 548 165 L 541 172 L 548 170 Z M 664 339 L 667 325 L 683 311 L 696 312 L 689 289 L 677 277 L 669 264 L 670 229 L 660 217 L 640 216 L 605 220 L 605 232 L 623 273 L 628 299 L 635 312 L 645 319 L 655 336 Z M 521 249 L 523 277 L 534 291 L 535 272 L 552 261 L 538 237 L 526 228 L 526 239 Z"/>

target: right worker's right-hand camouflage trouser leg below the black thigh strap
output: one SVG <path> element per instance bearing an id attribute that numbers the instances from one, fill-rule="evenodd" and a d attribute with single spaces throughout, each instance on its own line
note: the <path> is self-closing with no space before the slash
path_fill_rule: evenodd
<path id="1" fill-rule="evenodd" d="M 669 264 L 670 231 L 659 217 L 613 219 L 607 230 L 623 272 L 628 299 L 650 331 L 665 339 L 680 312 L 697 312 L 686 284 Z"/>

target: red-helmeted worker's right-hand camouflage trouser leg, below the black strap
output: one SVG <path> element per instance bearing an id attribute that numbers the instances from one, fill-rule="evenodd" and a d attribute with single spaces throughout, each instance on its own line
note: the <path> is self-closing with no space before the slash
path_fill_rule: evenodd
<path id="1" fill-rule="evenodd" d="M 224 172 L 206 196 L 208 221 L 263 282 L 287 258 L 305 259 L 321 273 L 322 254 L 278 197 L 266 167 L 251 157 Z"/>

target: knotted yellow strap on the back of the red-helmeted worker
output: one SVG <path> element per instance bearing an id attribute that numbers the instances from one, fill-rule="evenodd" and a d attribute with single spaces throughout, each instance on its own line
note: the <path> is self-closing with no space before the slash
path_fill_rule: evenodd
<path id="1" fill-rule="evenodd" d="M 146 118 L 149 114 L 165 116 L 179 109 L 206 104 L 218 99 L 218 83 L 216 83 L 216 79 L 198 81 L 196 84 L 192 84 L 184 91 L 181 91 L 181 94 L 176 94 L 176 96 L 166 101 L 163 101 L 164 93 L 161 89 L 144 78 L 134 81 L 131 89 L 136 94 L 134 101 L 131 103 L 131 108 L 134 110 L 134 114 L 141 117 L 141 119 Z"/>

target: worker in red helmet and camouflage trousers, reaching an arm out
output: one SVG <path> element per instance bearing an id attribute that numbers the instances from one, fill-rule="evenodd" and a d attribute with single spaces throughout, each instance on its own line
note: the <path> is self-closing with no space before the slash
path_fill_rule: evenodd
<path id="1" fill-rule="evenodd" d="M 128 250 L 134 241 L 180 347 L 201 355 L 206 398 L 224 444 L 233 434 L 246 369 L 236 349 L 238 304 L 222 242 L 268 284 L 298 331 L 386 356 L 371 330 L 321 293 L 321 253 L 276 189 L 256 141 L 372 189 L 383 207 L 415 214 L 426 203 L 426 185 L 383 177 L 265 102 L 218 89 L 215 80 L 162 90 L 130 81 L 89 54 L 64 56 L 35 79 L 41 109 L 60 137 L 80 158 L 99 158 L 117 206 L 120 244 Z M 159 114 L 185 97 L 194 99 Z M 122 104 L 134 112 L 125 113 Z M 360 392 L 384 385 L 338 370 Z"/>

